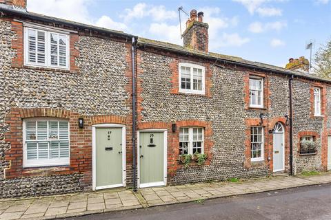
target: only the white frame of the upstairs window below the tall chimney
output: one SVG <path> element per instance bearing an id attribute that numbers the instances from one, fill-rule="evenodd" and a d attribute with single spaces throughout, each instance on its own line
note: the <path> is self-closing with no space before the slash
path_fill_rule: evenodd
<path id="1" fill-rule="evenodd" d="M 181 89 L 181 67 L 190 67 L 190 83 L 191 89 Z M 194 90 L 193 89 L 193 68 L 201 69 L 202 70 L 202 90 Z M 197 64 L 192 63 L 179 63 L 179 92 L 186 93 L 186 94 L 205 94 L 205 67 Z"/>

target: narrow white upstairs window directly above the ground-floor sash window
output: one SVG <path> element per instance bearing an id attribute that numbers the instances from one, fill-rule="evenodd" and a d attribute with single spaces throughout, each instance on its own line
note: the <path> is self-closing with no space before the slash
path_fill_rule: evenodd
<path id="1" fill-rule="evenodd" d="M 263 108 L 263 78 L 250 78 L 250 107 Z"/>

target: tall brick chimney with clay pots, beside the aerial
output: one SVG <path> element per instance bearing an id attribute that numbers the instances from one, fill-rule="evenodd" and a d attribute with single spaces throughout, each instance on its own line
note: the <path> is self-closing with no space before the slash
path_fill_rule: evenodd
<path id="1" fill-rule="evenodd" d="M 183 39 L 184 47 L 208 53 L 208 23 L 203 23 L 203 12 L 190 12 Z"/>

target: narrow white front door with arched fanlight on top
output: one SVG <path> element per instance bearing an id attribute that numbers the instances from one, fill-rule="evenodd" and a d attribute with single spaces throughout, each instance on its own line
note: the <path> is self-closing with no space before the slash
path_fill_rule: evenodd
<path id="1" fill-rule="evenodd" d="M 274 125 L 274 141 L 273 141 L 273 171 L 283 171 L 284 170 L 284 128 L 283 125 L 277 122 Z"/>

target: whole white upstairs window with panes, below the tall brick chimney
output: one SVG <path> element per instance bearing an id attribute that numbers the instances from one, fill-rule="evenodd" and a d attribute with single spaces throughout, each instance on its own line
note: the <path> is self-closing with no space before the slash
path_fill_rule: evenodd
<path id="1" fill-rule="evenodd" d="M 205 67 L 179 63 L 179 92 L 205 94 Z"/>

